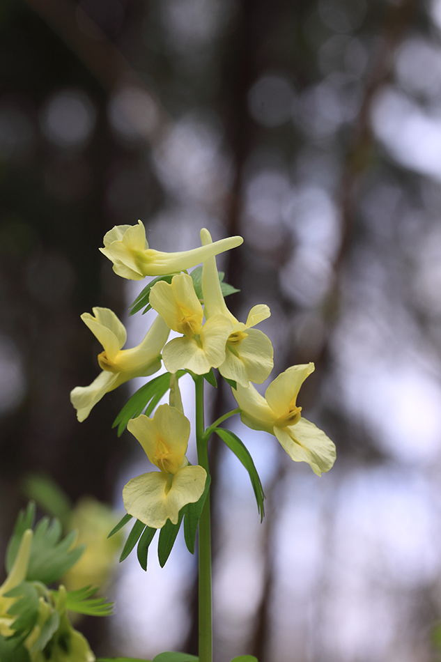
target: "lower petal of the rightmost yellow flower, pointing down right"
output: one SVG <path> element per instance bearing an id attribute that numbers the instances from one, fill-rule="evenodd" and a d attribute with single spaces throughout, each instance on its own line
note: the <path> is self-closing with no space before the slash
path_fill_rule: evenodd
<path id="1" fill-rule="evenodd" d="M 318 476 L 329 471 L 335 461 L 335 446 L 314 423 L 301 418 L 286 428 L 274 427 L 274 434 L 295 462 L 307 462 Z"/>

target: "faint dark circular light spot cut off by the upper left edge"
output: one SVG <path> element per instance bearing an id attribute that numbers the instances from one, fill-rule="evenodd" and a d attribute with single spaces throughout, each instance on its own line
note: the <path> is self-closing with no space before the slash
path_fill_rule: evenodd
<path id="1" fill-rule="evenodd" d="M 33 125 L 20 109 L 0 107 L 0 161 L 20 160 L 29 153 L 34 139 Z"/>

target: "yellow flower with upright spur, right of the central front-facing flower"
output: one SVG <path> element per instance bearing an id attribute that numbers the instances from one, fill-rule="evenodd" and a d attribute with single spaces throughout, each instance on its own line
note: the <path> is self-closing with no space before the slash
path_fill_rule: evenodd
<path id="1" fill-rule="evenodd" d="M 203 245 L 211 244 L 208 230 L 201 230 Z M 226 340 L 225 360 L 219 365 L 219 372 L 227 379 L 247 387 L 252 381 L 261 384 L 272 371 L 274 351 L 270 339 L 262 331 L 254 329 L 256 324 L 270 316 L 268 306 L 254 306 L 248 314 L 246 323 L 239 322 L 226 307 L 222 295 L 216 258 L 203 261 L 202 268 L 203 310 L 207 320 L 222 314 L 233 322 L 233 328 Z"/>

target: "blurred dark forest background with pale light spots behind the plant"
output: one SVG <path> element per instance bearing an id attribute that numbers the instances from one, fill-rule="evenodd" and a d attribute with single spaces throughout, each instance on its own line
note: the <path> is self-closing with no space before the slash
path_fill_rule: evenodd
<path id="1" fill-rule="evenodd" d="M 127 346 L 151 323 L 105 232 L 241 234 L 229 307 L 270 305 L 273 378 L 316 363 L 299 404 L 338 459 L 318 479 L 232 419 L 261 525 L 212 442 L 215 662 L 441 659 L 441 0 L 3 0 L 0 81 L 2 551 L 30 473 L 121 511 L 148 470 L 111 430 L 128 387 L 82 424 L 69 401 L 99 370 L 80 314 Z M 116 615 L 78 625 L 95 653 L 196 653 L 195 562 L 179 538 L 116 568 Z"/>

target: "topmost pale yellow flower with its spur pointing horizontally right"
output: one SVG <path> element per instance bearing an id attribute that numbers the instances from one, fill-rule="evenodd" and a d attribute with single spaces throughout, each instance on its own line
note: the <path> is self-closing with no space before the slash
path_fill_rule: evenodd
<path id="1" fill-rule="evenodd" d="M 114 263 L 118 276 L 142 280 L 145 276 L 163 276 L 185 271 L 211 255 L 217 255 L 240 246 L 242 237 L 228 237 L 211 246 L 199 246 L 189 251 L 162 253 L 148 247 L 146 230 L 138 225 L 117 225 L 105 234 L 104 248 L 100 251 Z"/>

